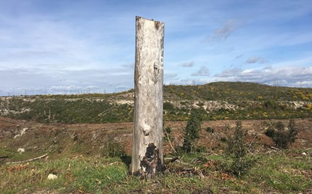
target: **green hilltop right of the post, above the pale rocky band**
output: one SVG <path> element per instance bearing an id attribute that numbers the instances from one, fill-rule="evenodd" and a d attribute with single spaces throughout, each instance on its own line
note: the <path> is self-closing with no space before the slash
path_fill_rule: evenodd
<path id="1" fill-rule="evenodd" d="M 204 101 L 312 101 L 312 89 L 247 82 L 215 82 L 199 86 L 165 86 L 165 99 Z"/>

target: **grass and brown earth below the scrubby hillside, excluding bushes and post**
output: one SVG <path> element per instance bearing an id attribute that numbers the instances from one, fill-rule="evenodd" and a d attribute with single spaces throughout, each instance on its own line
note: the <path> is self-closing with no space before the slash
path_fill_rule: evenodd
<path id="1" fill-rule="evenodd" d="M 242 121 L 245 143 L 254 147 L 247 154 L 252 162 L 239 177 L 224 154 L 235 120 L 204 122 L 193 154 L 178 149 L 186 122 L 166 122 L 172 131 L 164 136 L 165 158 L 180 159 L 147 180 L 128 176 L 132 123 L 55 125 L 0 118 L 0 193 L 312 193 L 312 120 L 296 120 L 298 139 L 283 150 L 272 149 L 274 142 L 264 135 L 276 122 Z M 178 154 L 170 154 L 168 139 Z M 6 163 L 43 154 L 48 157 Z M 48 180 L 50 173 L 57 179 Z"/>

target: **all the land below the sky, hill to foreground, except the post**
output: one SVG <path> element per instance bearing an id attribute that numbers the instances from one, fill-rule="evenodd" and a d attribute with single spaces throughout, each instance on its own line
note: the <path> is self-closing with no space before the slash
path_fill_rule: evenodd
<path id="1" fill-rule="evenodd" d="M 164 91 L 166 169 L 150 179 L 128 176 L 133 91 L 2 97 L 0 193 L 312 193 L 312 89 Z"/>

